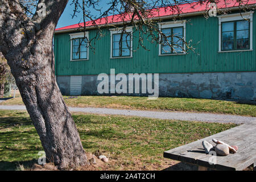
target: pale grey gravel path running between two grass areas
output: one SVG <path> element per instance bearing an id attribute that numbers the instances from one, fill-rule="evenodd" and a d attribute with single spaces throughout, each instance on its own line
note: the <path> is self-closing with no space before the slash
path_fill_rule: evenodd
<path id="1" fill-rule="evenodd" d="M 0 105 L 0 109 L 4 110 L 26 110 L 22 105 Z M 219 122 L 219 123 L 256 123 L 256 117 L 243 117 L 239 115 L 228 114 L 211 114 L 211 113 L 189 113 L 189 112 L 169 112 L 169 111 L 142 111 L 142 110 L 125 110 L 125 109 L 109 109 L 99 107 L 69 107 L 72 112 L 93 113 L 93 114 L 114 114 L 129 115 L 156 119 L 179 119 L 183 121 L 203 121 L 203 122 Z"/>

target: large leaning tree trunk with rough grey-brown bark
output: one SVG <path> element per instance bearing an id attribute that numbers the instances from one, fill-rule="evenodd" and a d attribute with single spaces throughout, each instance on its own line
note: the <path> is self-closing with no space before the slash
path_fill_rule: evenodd
<path id="1" fill-rule="evenodd" d="M 47 10 L 48 18 L 35 16 L 37 22 L 22 14 L 18 1 L 0 1 L 10 14 L 0 12 L 0 51 L 10 65 L 47 159 L 60 169 L 88 164 L 75 122 L 55 79 L 52 38 L 68 1 L 41 1 L 51 8 Z"/>

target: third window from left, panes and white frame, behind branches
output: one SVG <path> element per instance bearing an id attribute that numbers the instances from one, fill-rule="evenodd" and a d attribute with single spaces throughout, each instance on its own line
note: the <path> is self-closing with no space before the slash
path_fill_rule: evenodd
<path id="1" fill-rule="evenodd" d="M 159 55 L 183 54 L 185 41 L 185 20 L 176 22 L 159 23 L 159 29 L 166 35 L 166 40 L 161 37 Z M 169 44 L 171 46 L 169 46 Z"/>

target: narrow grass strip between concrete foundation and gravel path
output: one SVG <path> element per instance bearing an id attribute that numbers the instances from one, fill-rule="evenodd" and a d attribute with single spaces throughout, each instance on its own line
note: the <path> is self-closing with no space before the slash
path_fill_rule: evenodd
<path id="1" fill-rule="evenodd" d="M 256 105 L 237 104 L 232 101 L 207 100 L 198 98 L 160 97 L 148 100 L 147 97 L 128 96 L 79 96 L 71 98 L 63 96 L 68 106 L 74 107 L 110 107 L 118 109 L 193 111 L 207 113 L 221 113 L 247 115 L 256 117 Z M 20 97 L 12 98 L 0 103 L 1 105 L 23 105 Z"/>

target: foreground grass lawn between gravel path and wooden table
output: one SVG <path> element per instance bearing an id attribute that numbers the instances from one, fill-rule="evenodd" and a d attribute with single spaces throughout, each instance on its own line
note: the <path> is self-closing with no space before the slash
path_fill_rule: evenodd
<path id="1" fill-rule="evenodd" d="M 174 164 L 163 151 L 235 127 L 234 124 L 73 113 L 86 152 L 109 157 L 107 170 L 159 170 Z M 26 111 L 0 110 L 0 170 L 30 167 L 42 151 Z"/>

